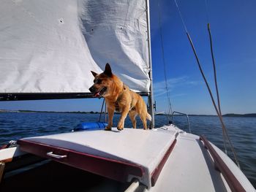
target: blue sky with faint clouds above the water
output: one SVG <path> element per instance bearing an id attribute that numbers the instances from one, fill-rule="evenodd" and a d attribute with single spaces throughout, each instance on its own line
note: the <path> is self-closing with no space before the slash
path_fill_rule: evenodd
<path id="1" fill-rule="evenodd" d="M 256 112 L 256 1 L 177 1 L 194 42 L 203 70 L 215 95 L 214 73 L 208 41 L 211 23 L 222 113 Z M 157 111 L 168 111 L 159 35 L 162 18 L 167 82 L 173 110 L 215 115 L 206 85 L 178 16 L 174 1 L 151 1 L 151 52 Z M 0 109 L 99 111 L 102 99 L 1 101 Z"/>

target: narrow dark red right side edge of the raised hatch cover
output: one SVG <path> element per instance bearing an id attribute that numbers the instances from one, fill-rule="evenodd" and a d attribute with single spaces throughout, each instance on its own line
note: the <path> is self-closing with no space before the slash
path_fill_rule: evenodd
<path id="1" fill-rule="evenodd" d="M 154 169 L 154 171 L 151 174 L 151 186 L 154 187 L 154 185 L 157 183 L 157 179 L 159 177 L 160 172 L 162 171 L 163 166 L 165 165 L 165 162 L 167 161 L 167 158 L 170 156 L 170 153 L 173 151 L 174 146 L 176 145 L 177 139 L 174 139 L 168 150 L 166 151 L 165 155 L 163 156 L 162 160 L 158 164 L 157 168 Z"/>

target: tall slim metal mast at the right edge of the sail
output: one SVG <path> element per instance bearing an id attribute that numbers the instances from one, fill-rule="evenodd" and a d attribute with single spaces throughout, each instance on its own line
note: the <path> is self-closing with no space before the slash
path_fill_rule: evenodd
<path id="1" fill-rule="evenodd" d="M 146 15 L 147 15 L 147 31 L 148 31 L 148 63 L 149 63 L 149 78 L 150 78 L 150 93 L 148 96 L 148 103 L 149 103 L 149 112 L 152 117 L 151 128 L 154 128 L 154 93 L 153 93 L 153 74 L 152 74 L 152 61 L 151 61 L 149 0 L 146 0 Z"/>

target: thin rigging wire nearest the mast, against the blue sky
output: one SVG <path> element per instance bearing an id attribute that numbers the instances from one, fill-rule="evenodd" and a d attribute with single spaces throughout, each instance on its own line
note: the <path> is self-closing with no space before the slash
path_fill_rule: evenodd
<path id="1" fill-rule="evenodd" d="M 161 41 L 161 50 L 162 50 L 162 62 L 164 64 L 164 74 L 165 74 L 165 89 L 166 89 L 166 96 L 167 96 L 167 101 L 169 105 L 169 112 L 168 114 L 173 113 L 173 109 L 170 103 L 170 94 L 169 94 L 169 89 L 167 85 L 167 75 L 166 75 L 166 62 L 165 62 L 165 51 L 164 51 L 164 44 L 163 44 L 163 38 L 162 38 L 162 17 L 160 13 L 160 6 L 159 6 L 159 1 L 158 1 L 158 15 L 159 15 L 159 31 L 160 31 L 160 41 Z"/>

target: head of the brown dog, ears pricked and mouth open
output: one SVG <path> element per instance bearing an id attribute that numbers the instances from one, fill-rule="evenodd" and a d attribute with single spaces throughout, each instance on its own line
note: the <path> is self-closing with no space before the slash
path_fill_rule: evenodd
<path id="1" fill-rule="evenodd" d="M 94 75 L 94 85 L 89 88 L 89 91 L 94 94 L 94 97 L 110 95 L 111 86 L 113 85 L 113 73 L 109 64 L 106 64 L 105 71 L 101 74 L 96 72 L 91 73 Z"/>

